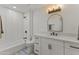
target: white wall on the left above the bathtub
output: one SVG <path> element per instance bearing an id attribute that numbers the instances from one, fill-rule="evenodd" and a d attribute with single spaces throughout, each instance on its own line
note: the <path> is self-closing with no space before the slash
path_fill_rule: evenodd
<path id="1" fill-rule="evenodd" d="M 4 34 L 0 39 L 0 50 L 22 43 L 23 14 L 0 7 Z"/>

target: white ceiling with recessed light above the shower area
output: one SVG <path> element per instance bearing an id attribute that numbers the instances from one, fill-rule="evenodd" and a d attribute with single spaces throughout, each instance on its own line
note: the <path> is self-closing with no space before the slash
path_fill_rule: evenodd
<path id="1" fill-rule="evenodd" d="M 41 8 L 45 6 L 45 4 L 0 4 L 0 6 L 25 13 L 29 9 L 34 10 L 36 8 Z M 16 6 L 16 8 L 13 8 L 13 6 Z"/>

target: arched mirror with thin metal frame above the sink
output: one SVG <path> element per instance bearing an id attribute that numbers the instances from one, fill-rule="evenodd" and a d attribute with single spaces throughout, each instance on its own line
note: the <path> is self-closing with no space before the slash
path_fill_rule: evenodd
<path id="1" fill-rule="evenodd" d="M 63 18 L 59 14 L 52 14 L 48 17 L 47 28 L 50 32 L 63 32 Z"/>

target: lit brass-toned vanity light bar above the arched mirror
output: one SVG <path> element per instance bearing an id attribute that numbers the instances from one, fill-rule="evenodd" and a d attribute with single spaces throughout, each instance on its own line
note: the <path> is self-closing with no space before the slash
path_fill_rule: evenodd
<path id="1" fill-rule="evenodd" d="M 54 12 L 59 12 L 61 10 L 62 10 L 62 5 L 57 5 L 57 4 L 48 6 L 48 8 L 47 8 L 48 14 L 51 14 Z"/>

